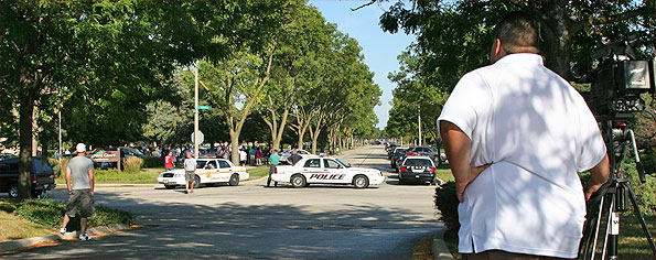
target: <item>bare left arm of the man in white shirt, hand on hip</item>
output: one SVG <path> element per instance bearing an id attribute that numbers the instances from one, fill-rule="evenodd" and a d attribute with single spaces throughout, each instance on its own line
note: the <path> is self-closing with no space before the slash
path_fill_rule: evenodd
<path id="1" fill-rule="evenodd" d="M 444 152 L 455 177 L 455 195 L 458 201 L 462 203 L 466 186 L 490 165 L 470 166 L 472 140 L 458 126 L 449 121 L 440 121 L 440 136 L 444 142 Z"/>

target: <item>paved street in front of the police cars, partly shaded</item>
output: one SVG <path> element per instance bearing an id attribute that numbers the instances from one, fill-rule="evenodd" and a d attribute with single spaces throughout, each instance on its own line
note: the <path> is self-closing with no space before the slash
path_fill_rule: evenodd
<path id="1" fill-rule="evenodd" d="M 399 186 L 383 147 L 345 152 L 354 166 L 376 167 L 386 183 L 366 189 L 312 185 L 265 187 L 101 187 L 96 202 L 137 214 L 144 227 L 95 240 L 65 241 L 3 258 L 410 258 L 416 238 L 442 228 L 434 186 Z M 52 193 L 64 199 L 63 189 Z"/>

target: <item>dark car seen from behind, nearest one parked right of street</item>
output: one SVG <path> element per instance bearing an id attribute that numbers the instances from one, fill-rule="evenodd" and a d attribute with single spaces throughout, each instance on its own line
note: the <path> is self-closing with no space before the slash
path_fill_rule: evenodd
<path id="1" fill-rule="evenodd" d="M 430 183 L 435 184 L 435 164 L 427 156 L 407 156 L 399 164 L 399 184 Z"/>

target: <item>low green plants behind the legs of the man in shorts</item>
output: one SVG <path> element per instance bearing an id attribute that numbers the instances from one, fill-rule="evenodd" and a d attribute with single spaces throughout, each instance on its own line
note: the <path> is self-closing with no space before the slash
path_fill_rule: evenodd
<path id="1" fill-rule="evenodd" d="M 13 212 L 14 215 L 46 227 L 60 227 L 66 213 L 66 204 L 58 202 L 28 199 L 20 202 Z M 130 212 L 96 205 L 96 213 L 88 218 L 87 227 L 99 227 L 111 224 L 135 223 L 135 215 Z M 79 229 L 79 218 L 72 218 L 67 226 L 68 230 Z"/>

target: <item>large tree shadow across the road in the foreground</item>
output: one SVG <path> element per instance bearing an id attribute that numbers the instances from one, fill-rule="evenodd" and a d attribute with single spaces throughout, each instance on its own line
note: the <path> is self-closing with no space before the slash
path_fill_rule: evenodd
<path id="1" fill-rule="evenodd" d="M 321 188 L 316 185 L 313 189 Z M 216 197 L 216 201 L 221 199 Z M 418 213 L 374 205 L 341 205 L 340 209 L 321 213 L 314 213 L 308 206 L 286 204 L 245 206 L 226 202 L 205 206 L 191 202 L 153 205 L 148 201 L 128 198 L 120 192 L 103 192 L 97 202 L 139 212 L 138 224 L 144 227 L 98 237 L 89 242 L 66 241 L 2 257 L 408 258 L 411 247 L 395 249 L 398 254 L 380 254 L 383 252 L 369 243 L 398 247 L 398 241 L 388 241 L 395 238 L 406 239 L 401 245 L 408 246 L 411 243 L 411 238 L 406 238 L 409 232 L 417 236 L 441 227 L 434 220 L 421 220 Z M 335 236 L 343 239 L 334 239 Z"/>

